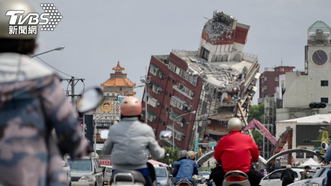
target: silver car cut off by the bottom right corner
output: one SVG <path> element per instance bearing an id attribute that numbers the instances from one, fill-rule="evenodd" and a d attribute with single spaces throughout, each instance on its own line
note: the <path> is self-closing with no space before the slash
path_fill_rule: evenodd
<path id="1" fill-rule="evenodd" d="M 313 178 L 300 180 L 295 183 L 290 184 L 289 186 L 304 186 L 311 183 L 311 185 L 315 184 L 314 186 L 322 186 L 322 181 L 326 177 L 327 172 L 330 170 L 331 166 L 321 167 L 319 170 L 316 171 Z M 318 185 L 316 185 L 318 184 Z"/>

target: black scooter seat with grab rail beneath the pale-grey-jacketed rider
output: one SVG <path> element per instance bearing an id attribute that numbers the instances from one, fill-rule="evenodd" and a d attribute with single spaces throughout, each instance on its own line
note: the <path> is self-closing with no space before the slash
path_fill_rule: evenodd
<path id="1" fill-rule="evenodd" d="M 115 176 L 117 173 L 123 174 L 118 174 L 117 176 Z M 125 173 L 127 173 L 127 175 L 125 175 Z M 146 185 L 146 180 L 144 176 L 140 172 L 135 170 L 116 170 L 114 174 L 112 174 L 111 182 L 114 182 L 114 178 L 116 178 L 116 182 L 132 182 L 132 177 L 129 175 L 129 173 L 133 176 L 133 182 L 139 182 Z"/>

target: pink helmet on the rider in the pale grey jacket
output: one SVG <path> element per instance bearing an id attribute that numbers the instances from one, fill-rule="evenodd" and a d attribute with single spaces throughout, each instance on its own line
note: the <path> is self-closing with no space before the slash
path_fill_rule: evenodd
<path id="1" fill-rule="evenodd" d="M 121 114 L 123 116 L 139 116 L 142 112 L 142 106 L 138 98 L 128 96 L 122 100 Z"/>

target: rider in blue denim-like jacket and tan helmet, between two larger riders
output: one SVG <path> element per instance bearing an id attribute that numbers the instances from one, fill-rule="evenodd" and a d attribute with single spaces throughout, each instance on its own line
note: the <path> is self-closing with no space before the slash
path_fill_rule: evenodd
<path id="1" fill-rule="evenodd" d="M 193 170 L 194 168 L 199 167 L 199 164 L 195 163 L 194 158 L 195 153 L 193 151 L 189 151 L 186 154 L 186 159 L 173 163 L 174 166 L 179 166 L 176 181 L 179 181 L 182 178 L 187 178 L 191 183 L 194 184 L 194 180 L 192 178 Z"/>

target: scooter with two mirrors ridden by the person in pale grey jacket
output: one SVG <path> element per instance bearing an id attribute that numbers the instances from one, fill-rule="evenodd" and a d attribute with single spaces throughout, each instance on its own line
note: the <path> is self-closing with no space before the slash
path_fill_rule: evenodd
<path id="1" fill-rule="evenodd" d="M 102 139 L 108 138 L 109 130 L 101 131 L 100 137 Z M 171 131 L 161 131 L 160 140 L 169 140 L 171 138 Z M 158 140 L 159 141 L 159 140 Z M 168 155 L 168 154 L 167 154 Z M 157 185 L 156 174 L 154 166 L 151 163 L 147 163 L 148 170 L 150 172 L 152 183 Z M 112 186 L 143 186 L 146 185 L 144 176 L 136 170 L 116 170 L 110 180 Z"/>

